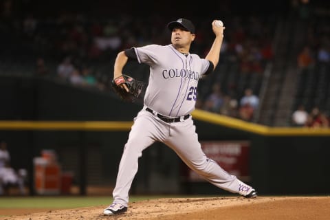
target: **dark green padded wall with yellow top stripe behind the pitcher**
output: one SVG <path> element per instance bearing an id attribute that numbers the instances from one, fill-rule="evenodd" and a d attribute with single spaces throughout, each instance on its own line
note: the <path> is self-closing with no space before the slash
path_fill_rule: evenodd
<path id="1" fill-rule="evenodd" d="M 113 187 L 140 104 L 123 103 L 110 91 L 9 76 L 1 77 L 0 101 L 0 138 L 8 142 L 12 166 L 33 174 L 32 158 L 43 148 L 54 148 L 64 168 L 74 170 L 81 194 L 89 184 Z M 198 110 L 192 115 L 201 142 L 250 143 L 245 165 L 259 193 L 329 194 L 329 129 L 270 128 Z M 223 192 L 205 181 L 191 181 L 186 172 L 175 153 L 155 143 L 140 159 L 132 192 Z"/>

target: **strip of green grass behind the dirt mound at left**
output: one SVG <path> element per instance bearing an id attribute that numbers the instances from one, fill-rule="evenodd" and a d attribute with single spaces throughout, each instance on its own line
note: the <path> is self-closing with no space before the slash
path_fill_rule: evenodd
<path id="1" fill-rule="evenodd" d="M 129 201 L 157 199 L 159 196 L 130 197 Z M 0 208 L 79 208 L 108 206 L 112 197 L 0 197 Z"/>

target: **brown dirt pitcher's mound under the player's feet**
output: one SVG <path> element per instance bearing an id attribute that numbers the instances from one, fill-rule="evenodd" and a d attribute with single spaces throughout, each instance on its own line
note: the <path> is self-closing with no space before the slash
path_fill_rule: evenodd
<path id="1" fill-rule="evenodd" d="M 330 197 L 152 199 L 130 203 L 125 214 L 104 216 L 104 206 L 49 210 L 1 219 L 329 219 Z"/>

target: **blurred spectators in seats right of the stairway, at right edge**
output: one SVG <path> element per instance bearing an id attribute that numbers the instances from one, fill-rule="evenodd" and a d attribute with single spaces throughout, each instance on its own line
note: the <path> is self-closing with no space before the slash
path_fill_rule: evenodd
<path id="1" fill-rule="evenodd" d="M 298 1 L 297 1 L 298 2 Z M 329 127 L 330 123 L 330 11 L 297 5 L 305 26 L 304 43 L 297 54 L 298 92 L 293 126 Z"/>

